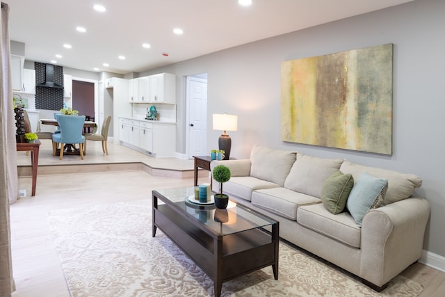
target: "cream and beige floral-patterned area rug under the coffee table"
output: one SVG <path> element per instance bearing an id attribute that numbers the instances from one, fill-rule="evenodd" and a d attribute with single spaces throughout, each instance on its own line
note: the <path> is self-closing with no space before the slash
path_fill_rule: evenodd
<path id="1" fill-rule="evenodd" d="M 73 297 L 213 296 L 213 281 L 160 230 L 151 200 L 61 209 L 49 214 Z M 346 273 L 280 242 L 279 278 L 266 267 L 223 283 L 222 296 L 418 296 L 399 275 L 377 293 Z"/>

